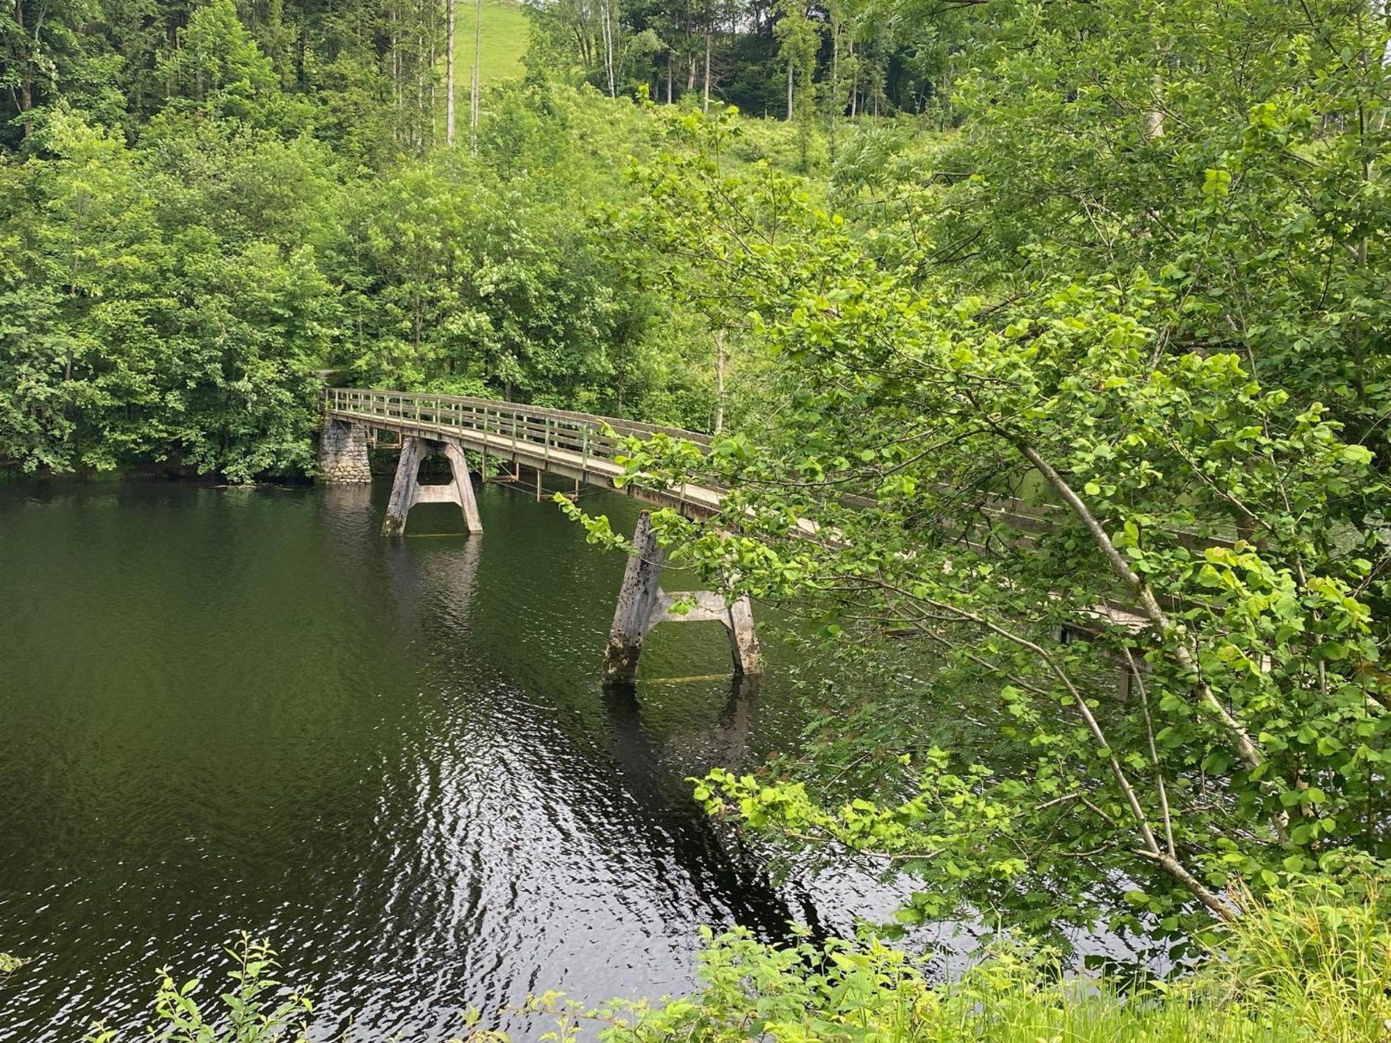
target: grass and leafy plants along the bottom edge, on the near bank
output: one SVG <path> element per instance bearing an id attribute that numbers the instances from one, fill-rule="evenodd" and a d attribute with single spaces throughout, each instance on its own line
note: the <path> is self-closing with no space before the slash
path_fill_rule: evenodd
<path id="1" fill-rule="evenodd" d="M 1327 887 L 1238 898 L 1242 918 L 1223 960 L 1182 980 L 1077 978 L 1036 948 L 997 944 L 943 983 L 932 961 L 858 941 L 769 946 L 736 929 L 705 932 L 702 989 L 664 1003 L 586 1008 L 556 993 L 509 1014 L 538 1039 L 658 1040 L 1110 1040 L 1111 1043 L 1363 1043 L 1385 1037 L 1391 1017 L 1391 930 L 1378 903 L 1349 909 Z M 160 972 L 150 1037 L 217 1043 L 300 1043 L 310 997 L 280 980 L 266 943 L 227 950 L 231 985 L 218 997 L 196 980 Z M 1124 985 L 1124 987 L 1123 987 Z M 330 1012 L 330 1017 L 334 1017 Z M 479 1011 L 453 1043 L 506 1043 Z M 120 1043 L 93 1026 L 86 1043 Z"/>

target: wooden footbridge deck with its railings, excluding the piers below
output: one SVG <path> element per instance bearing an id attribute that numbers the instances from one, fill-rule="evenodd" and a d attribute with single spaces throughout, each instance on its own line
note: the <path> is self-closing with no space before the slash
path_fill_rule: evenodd
<path id="1" fill-rule="evenodd" d="M 335 420 L 453 441 L 474 452 L 691 515 L 711 515 L 723 499 L 719 490 L 702 485 L 661 491 L 619 485 L 625 469 L 615 458 L 622 452 L 622 438 L 668 434 L 708 445 L 709 438 L 696 431 L 462 395 L 357 388 L 327 388 L 324 409 Z"/>

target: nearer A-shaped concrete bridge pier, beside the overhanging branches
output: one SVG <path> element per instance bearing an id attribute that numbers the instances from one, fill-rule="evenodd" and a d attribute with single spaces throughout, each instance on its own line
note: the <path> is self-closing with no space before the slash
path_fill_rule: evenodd
<path id="1" fill-rule="evenodd" d="M 729 649 L 736 674 L 762 673 L 758 655 L 758 636 L 754 633 L 754 612 L 748 598 L 733 605 L 714 591 L 682 591 L 668 594 L 661 588 L 666 549 L 657 542 L 652 520 L 643 512 L 633 533 L 634 553 L 623 570 L 623 585 L 613 609 L 608 647 L 604 649 L 604 681 L 627 684 L 637 676 L 637 661 L 643 641 L 658 623 L 698 623 L 715 620 L 729 634 Z M 690 604 L 684 612 L 672 612 L 676 602 Z"/>

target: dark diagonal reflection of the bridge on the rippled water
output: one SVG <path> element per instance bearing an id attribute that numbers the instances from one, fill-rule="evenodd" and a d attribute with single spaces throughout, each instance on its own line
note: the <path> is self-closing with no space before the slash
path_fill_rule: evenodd
<path id="1" fill-rule="evenodd" d="M 487 747 L 508 751 L 506 759 L 516 772 L 512 776 L 515 784 L 531 780 L 538 786 L 529 794 L 530 800 L 577 801 L 570 808 L 574 822 L 584 823 L 601 844 L 632 846 L 634 852 L 651 848 L 651 855 L 630 865 L 643 873 L 670 878 L 659 883 L 662 890 L 670 893 L 668 901 L 675 903 L 658 901 L 658 908 L 666 907 L 664 918 L 689 908 L 684 915 L 691 916 L 693 940 L 696 925 L 705 918 L 712 918 L 716 926 L 741 923 L 768 939 L 785 937 L 786 925 L 794 918 L 815 922 L 812 909 L 797 908 L 796 903 L 779 894 L 753 854 L 711 822 L 691 798 L 690 784 L 684 780 L 686 775 L 714 765 L 733 768 L 747 763 L 748 737 L 758 704 L 757 679 L 729 679 L 727 695 L 718 712 L 701 715 L 701 723 L 686 725 L 672 734 L 654 731 L 644 723 L 637 688 L 584 684 L 584 691 L 576 695 L 601 702 L 606 744 L 612 752 L 608 763 L 602 757 L 595 762 L 587 744 L 576 744 L 576 737 L 561 725 L 561 719 L 547 712 L 536 715 L 527 708 L 540 690 L 565 686 L 576 674 L 593 673 L 597 680 L 597 648 L 594 658 L 573 662 L 566 676 L 547 676 L 541 669 L 531 683 L 517 684 L 517 679 L 494 676 L 499 662 L 487 648 L 460 640 L 487 613 L 499 608 L 480 602 L 479 597 L 485 537 L 408 534 L 403 540 L 383 540 L 377 534 L 380 505 L 373 503 L 366 487 L 327 487 L 320 494 L 337 567 L 366 573 L 359 583 L 376 587 L 376 597 L 387 601 L 389 608 L 381 619 L 415 647 L 420 656 L 417 665 L 434 659 L 434 666 L 426 669 L 438 672 L 438 684 L 462 684 L 455 693 L 462 702 L 447 700 L 447 715 L 452 723 L 445 731 L 435 733 L 435 740 L 448 747 L 458 741 L 459 729 L 480 737 L 480 741 L 485 736 Z M 505 544 L 495 544 L 495 552 L 506 553 Z M 540 595 L 538 590 L 533 591 Z M 506 611 L 520 608 L 510 605 Z M 485 686 L 487 691 L 474 686 Z M 472 741 L 466 745 L 477 752 Z M 447 748 L 426 754 L 434 758 L 451 755 Z M 444 765 L 435 765 L 431 776 L 438 779 L 438 772 L 448 773 Z M 569 773 L 570 777 L 568 782 L 545 782 L 555 773 Z M 594 786 L 600 787 L 598 793 L 593 791 Z M 584 793 L 590 795 L 581 798 Z M 477 797 L 444 798 L 431 787 L 420 798 L 438 808 L 440 804 L 473 805 Z M 616 802 L 615 797 L 619 798 Z M 633 818 L 609 818 L 622 804 L 632 807 Z M 633 829 L 640 834 L 630 834 Z M 650 857 L 655 861 L 647 861 Z M 629 862 L 623 859 L 620 864 Z M 638 880 L 633 884 L 644 887 Z M 616 880 L 615 886 L 623 884 Z"/>

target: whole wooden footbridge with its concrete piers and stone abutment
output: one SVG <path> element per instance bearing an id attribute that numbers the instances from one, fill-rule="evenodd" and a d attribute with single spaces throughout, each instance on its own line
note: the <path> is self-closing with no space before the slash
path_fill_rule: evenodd
<path id="1" fill-rule="evenodd" d="M 623 438 L 668 434 L 708 446 L 709 439 L 694 431 L 459 395 L 327 388 L 323 401 L 321 481 L 371 481 L 367 445 L 374 434 L 392 431 L 401 438 L 383 535 L 403 534 L 406 517 L 416 503 L 441 502 L 456 503 L 469 533 L 481 533 L 466 452 L 479 455 L 483 476 L 488 473 L 488 458 L 512 463 L 517 477 L 522 467 L 530 469 L 538 498 L 541 477 L 555 474 L 574 481 L 576 491 L 580 485 L 618 490 L 657 506 L 676 508 L 689 517 L 714 515 L 723 499 L 719 490 L 702 485 L 683 484 L 658 491 L 622 484 L 625 469 L 615 458 Z M 445 459 L 449 466 L 447 483 L 420 481 L 420 464 L 428 456 Z M 605 681 L 629 683 L 637 676 L 643 640 L 657 624 L 702 620 L 723 624 L 736 673 L 759 673 L 748 598 L 729 601 L 715 591 L 665 592 L 659 584 L 666 551 L 657 542 L 647 513 L 638 517 L 633 548 L 604 652 Z"/>

